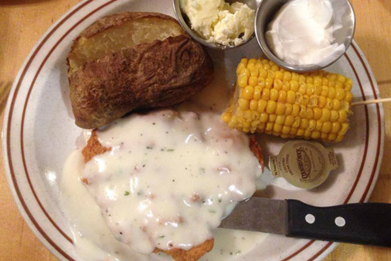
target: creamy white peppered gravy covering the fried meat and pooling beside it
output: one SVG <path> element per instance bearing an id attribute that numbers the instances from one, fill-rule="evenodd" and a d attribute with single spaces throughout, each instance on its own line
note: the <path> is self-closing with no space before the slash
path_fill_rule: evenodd
<path id="1" fill-rule="evenodd" d="M 246 238 L 264 237 L 223 229 L 212 234 L 236 202 L 255 192 L 261 174 L 247 136 L 228 129 L 216 112 L 132 114 L 97 134 L 111 151 L 87 164 L 80 150 L 73 152 L 62 179 L 63 205 L 84 259 L 148 260 L 134 252 L 187 250 L 213 237 L 209 257 L 224 252 L 228 258 L 251 248 Z M 240 239 L 237 250 L 221 245 L 233 238 Z"/>

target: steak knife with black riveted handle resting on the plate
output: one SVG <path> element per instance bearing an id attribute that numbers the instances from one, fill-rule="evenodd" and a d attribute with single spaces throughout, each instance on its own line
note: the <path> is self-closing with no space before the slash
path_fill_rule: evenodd
<path id="1" fill-rule="evenodd" d="M 314 207 L 293 199 L 251 197 L 238 203 L 219 227 L 391 247 L 391 204 Z"/>

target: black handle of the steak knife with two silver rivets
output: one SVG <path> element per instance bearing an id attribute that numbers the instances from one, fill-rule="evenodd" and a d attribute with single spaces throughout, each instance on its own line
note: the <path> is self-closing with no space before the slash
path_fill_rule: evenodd
<path id="1" fill-rule="evenodd" d="M 391 204 L 314 207 L 298 200 L 286 201 L 288 237 L 391 247 Z"/>

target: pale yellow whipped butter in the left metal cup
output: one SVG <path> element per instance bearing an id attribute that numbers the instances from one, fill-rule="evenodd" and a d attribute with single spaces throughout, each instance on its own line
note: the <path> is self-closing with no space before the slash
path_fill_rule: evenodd
<path id="1" fill-rule="evenodd" d="M 254 33 L 255 11 L 246 4 L 224 0 L 181 0 L 191 27 L 210 43 L 237 46 Z"/>

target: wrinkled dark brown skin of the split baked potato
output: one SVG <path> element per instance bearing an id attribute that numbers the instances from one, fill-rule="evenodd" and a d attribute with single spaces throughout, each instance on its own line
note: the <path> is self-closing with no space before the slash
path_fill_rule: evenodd
<path id="1" fill-rule="evenodd" d="M 129 21 L 140 16 L 157 16 L 177 23 L 162 14 L 123 13 L 95 22 L 80 37 L 90 37 L 119 24 L 124 17 Z M 68 71 L 75 123 L 84 129 L 94 129 L 135 109 L 181 103 L 210 83 L 213 75 L 210 56 L 185 33 L 85 62 Z"/>

